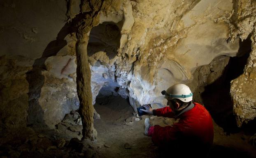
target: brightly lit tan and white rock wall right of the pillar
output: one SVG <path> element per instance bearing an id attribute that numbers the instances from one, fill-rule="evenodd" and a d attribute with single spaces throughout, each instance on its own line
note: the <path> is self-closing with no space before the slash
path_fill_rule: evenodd
<path id="1" fill-rule="evenodd" d="M 126 89 L 133 106 L 163 106 L 163 89 L 191 82 L 198 66 L 219 55 L 235 56 L 239 48 L 238 39 L 226 43 L 230 1 L 125 1 L 121 7 L 123 12 L 100 14 L 100 22 L 107 19 L 120 28 L 115 62 L 102 59 L 102 51 L 89 60 L 92 65 L 98 60 L 106 69 L 114 64 L 115 81 Z"/>

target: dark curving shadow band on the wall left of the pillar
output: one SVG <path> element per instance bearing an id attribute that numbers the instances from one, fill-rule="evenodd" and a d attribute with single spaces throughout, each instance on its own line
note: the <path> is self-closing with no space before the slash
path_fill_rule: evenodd
<path id="1" fill-rule="evenodd" d="M 65 23 L 58 33 L 56 40 L 51 41 L 47 45 L 42 56 L 35 60 L 33 69 L 26 73 L 26 80 L 29 83 L 27 126 L 47 127 L 43 121 L 44 111 L 39 103 L 41 89 L 44 85 L 44 76 L 42 75 L 42 71 L 45 70 L 44 62 L 48 57 L 55 56 L 59 50 L 67 45 L 67 41 L 64 38 L 72 32 L 70 26 L 71 23 Z"/>

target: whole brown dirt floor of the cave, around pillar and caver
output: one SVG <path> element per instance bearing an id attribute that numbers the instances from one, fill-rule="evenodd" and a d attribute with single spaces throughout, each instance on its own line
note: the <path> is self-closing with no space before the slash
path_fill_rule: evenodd
<path id="1" fill-rule="evenodd" d="M 56 129 L 24 127 L 9 129 L 0 124 L 0 158 L 166 158 L 162 149 L 144 135 L 144 120 L 150 117 L 153 125 L 172 125 L 175 119 L 144 115 L 136 117 L 127 99 L 120 96 L 97 98 L 94 105 L 94 127 L 97 143 L 82 137 L 81 118 L 76 111 L 66 114 Z M 98 119 L 97 119 L 98 118 Z M 249 139 L 254 126 L 235 133 L 224 132 L 214 122 L 214 145 L 209 157 L 256 158 L 256 148 Z M 254 136 L 256 144 L 256 136 Z M 186 151 L 186 149 L 184 149 Z M 168 151 L 172 154 L 175 151 Z M 198 151 L 200 152 L 200 149 Z"/>

